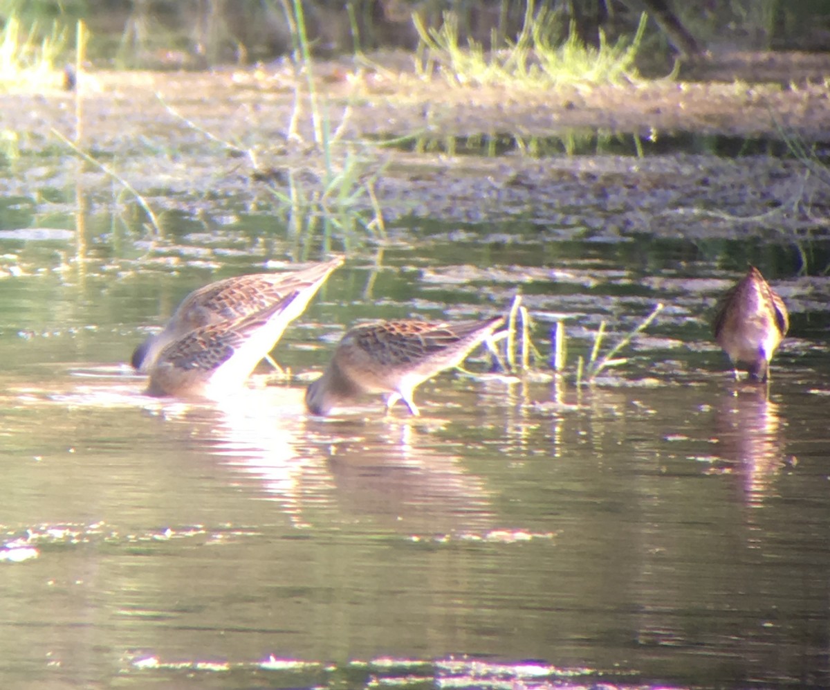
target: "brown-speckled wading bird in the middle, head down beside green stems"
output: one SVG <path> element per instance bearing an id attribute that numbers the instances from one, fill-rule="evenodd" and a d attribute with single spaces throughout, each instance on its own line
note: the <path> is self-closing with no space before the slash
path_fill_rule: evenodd
<path id="1" fill-rule="evenodd" d="M 355 326 L 340 340 L 329 366 L 305 392 L 314 414 L 362 393 L 385 393 L 387 412 L 403 400 L 411 414 L 415 388 L 443 369 L 460 365 L 504 322 L 379 321 Z"/>

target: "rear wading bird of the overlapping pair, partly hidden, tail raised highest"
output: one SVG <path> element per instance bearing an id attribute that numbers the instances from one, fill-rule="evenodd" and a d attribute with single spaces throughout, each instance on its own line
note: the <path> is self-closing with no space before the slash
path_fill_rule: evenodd
<path id="1" fill-rule="evenodd" d="M 294 299 L 275 315 L 275 323 L 269 330 L 274 340 L 271 347 L 262 352 L 261 359 L 276 345 L 286 325 L 305 311 L 311 297 L 329 274 L 342 263 L 343 257 L 337 257 L 301 271 L 234 276 L 200 287 L 183 299 L 164 325 L 164 330 L 150 335 L 135 348 L 130 361 L 134 369 L 146 374 L 167 345 L 181 339 L 191 330 L 239 321 L 283 301 L 288 295 L 294 295 Z M 256 365 L 256 362 L 253 364 Z"/>

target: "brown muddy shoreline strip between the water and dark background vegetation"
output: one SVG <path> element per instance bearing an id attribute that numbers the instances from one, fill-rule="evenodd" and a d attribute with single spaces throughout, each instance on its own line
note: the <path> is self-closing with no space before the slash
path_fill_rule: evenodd
<path id="1" fill-rule="evenodd" d="M 821 169 L 811 174 L 798 160 L 683 150 L 644 158 L 535 158 L 514 150 L 487 158 L 465 155 L 463 147 L 447 155 L 377 145 L 394 137 L 452 142 L 471 135 L 526 143 L 594 130 L 632 141 L 634 135 L 660 141 L 678 133 L 771 142 L 786 133 L 807 145 L 830 141 L 830 88 L 818 81 L 824 69 L 830 75 L 830 56 L 763 55 L 692 68 L 698 80 L 707 79 L 708 70 L 707 81 L 519 92 L 452 87 L 440 75 L 422 79 L 411 57 L 396 53 L 360 65 L 318 63 L 315 83 L 328 104 L 331 130 L 339 130 L 335 163 L 349 150 L 365 177 L 377 177 L 374 190 L 390 223 L 402 217 L 472 223 L 523 217 L 610 239 L 631 232 L 814 237 L 828 225 L 830 184 L 821 179 Z M 724 81 L 728 76 L 731 81 Z M 299 80 L 305 91 L 305 76 Z M 297 81 L 288 65 L 210 73 L 90 72 L 80 79 L 81 148 L 129 180 L 159 212 L 210 213 L 229 198 L 273 203 L 265 185 L 279 188 L 286 170 L 300 174 L 311 190 L 321 184 L 322 155 L 312 144 L 305 96 L 298 110 Z M 39 186 L 66 188 L 77 181 L 93 198 L 111 198 L 109 176 L 72 163 L 76 154 L 51 131 L 74 135 L 75 94 L 55 90 L 5 98 L 5 128 L 16 133 L 17 156 L 2 180 L 4 195 L 33 195 Z M 289 136 L 294 114 L 295 135 Z M 371 208 L 364 197 L 356 208 Z"/>

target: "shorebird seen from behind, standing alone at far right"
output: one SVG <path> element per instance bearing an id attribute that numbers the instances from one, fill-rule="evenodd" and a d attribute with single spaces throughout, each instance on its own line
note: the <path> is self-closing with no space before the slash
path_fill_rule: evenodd
<path id="1" fill-rule="evenodd" d="M 769 360 L 789 328 L 784 301 L 754 266 L 720 298 L 715 313 L 715 340 L 732 361 L 735 379 L 739 362 L 749 365 L 749 377 L 766 381 Z"/>

